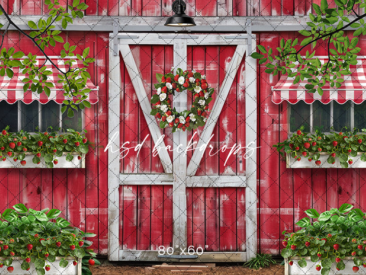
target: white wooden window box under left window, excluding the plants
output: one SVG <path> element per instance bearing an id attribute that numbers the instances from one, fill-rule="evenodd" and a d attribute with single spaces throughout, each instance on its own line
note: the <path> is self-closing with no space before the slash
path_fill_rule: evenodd
<path id="1" fill-rule="evenodd" d="M 58 163 L 56 165 L 53 165 L 53 168 L 85 168 L 85 154 L 81 155 L 81 159 L 78 159 L 77 156 L 79 155 L 76 152 L 71 153 L 74 155 L 74 158 L 72 161 L 66 160 L 66 155 L 68 153 L 64 152 L 62 156 L 55 157 L 58 160 Z M 34 154 L 25 154 L 24 160 L 26 161 L 25 166 L 22 166 L 20 164 L 20 160 L 14 161 L 13 157 L 8 157 L 6 155 L 7 159 L 3 161 L 0 159 L 0 168 L 47 168 L 46 162 L 44 161 L 44 158 L 41 157 L 41 162 L 39 164 L 33 163 L 32 159 L 34 157 Z M 1 274 L 1 273 L 0 273 Z"/>

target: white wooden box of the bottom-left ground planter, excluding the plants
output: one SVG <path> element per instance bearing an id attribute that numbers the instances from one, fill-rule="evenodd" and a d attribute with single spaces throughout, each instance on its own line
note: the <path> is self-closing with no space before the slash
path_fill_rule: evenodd
<path id="1" fill-rule="evenodd" d="M 53 263 L 47 263 L 50 265 L 51 269 L 49 271 L 46 271 L 47 275 L 81 275 L 81 258 L 78 259 L 78 264 L 73 265 L 74 258 L 73 257 L 67 257 L 66 260 L 69 261 L 69 264 L 67 267 L 62 268 L 59 266 L 59 262 L 62 259 L 62 257 L 56 257 L 56 260 Z M 13 259 L 12 266 L 14 267 L 12 275 L 29 275 L 29 274 L 37 274 L 36 268 L 34 266 L 34 263 L 29 263 L 31 268 L 27 270 L 23 270 L 20 268 L 21 263 L 23 262 L 23 259 L 15 258 Z M 0 274 L 10 274 L 7 270 L 7 266 L 3 266 L 0 268 Z"/>

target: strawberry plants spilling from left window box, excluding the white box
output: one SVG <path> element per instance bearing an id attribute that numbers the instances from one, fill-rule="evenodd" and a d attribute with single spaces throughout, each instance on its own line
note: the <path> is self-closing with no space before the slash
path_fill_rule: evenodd
<path id="1" fill-rule="evenodd" d="M 38 164 L 43 158 L 47 168 L 53 168 L 58 163 L 57 157 L 62 156 L 63 152 L 67 152 L 66 160 L 72 161 L 74 155 L 71 153 L 77 152 L 80 159 L 80 155 L 86 154 L 89 150 L 90 143 L 85 137 L 86 130 L 80 133 L 67 129 L 66 133 L 60 133 L 49 127 L 50 132 L 31 134 L 25 131 L 8 132 L 8 129 L 9 126 L 0 134 L 0 159 L 5 161 L 9 157 L 10 161 L 20 161 L 22 166 L 26 164 L 25 154 L 34 154 L 33 163 Z"/>

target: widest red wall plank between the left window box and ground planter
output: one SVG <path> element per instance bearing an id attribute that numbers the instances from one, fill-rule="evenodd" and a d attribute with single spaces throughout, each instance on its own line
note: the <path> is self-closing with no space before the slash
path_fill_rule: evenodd
<path id="1" fill-rule="evenodd" d="M 20 170 L 20 200 L 27 207 L 41 210 L 41 169 Z"/>

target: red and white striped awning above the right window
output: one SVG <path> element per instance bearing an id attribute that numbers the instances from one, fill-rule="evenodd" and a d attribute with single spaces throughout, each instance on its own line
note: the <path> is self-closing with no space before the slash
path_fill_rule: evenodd
<path id="1" fill-rule="evenodd" d="M 321 60 L 323 63 L 324 60 Z M 307 104 L 319 100 L 324 104 L 328 104 L 331 100 L 335 100 L 340 104 L 351 100 L 356 104 L 366 100 L 366 59 L 357 60 L 357 65 L 350 66 L 351 74 L 345 75 L 345 81 L 342 82 L 340 88 L 330 87 L 329 84 L 323 86 L 323 95 L 318 92 L 309 93 L 305 89 L 308 81 L 299 81 L 293 84 L 294 77 L 281 76 L 278 83 L 272 87 L 272 102 L 280 104 L 283 101 L 288 101 L 290 104 L 295 104 L 303 100 Z"/>

